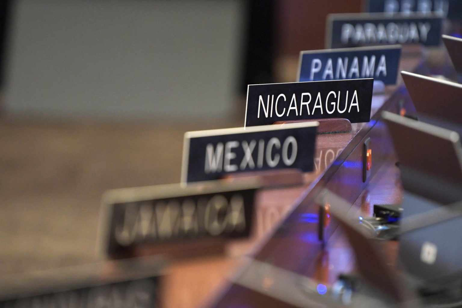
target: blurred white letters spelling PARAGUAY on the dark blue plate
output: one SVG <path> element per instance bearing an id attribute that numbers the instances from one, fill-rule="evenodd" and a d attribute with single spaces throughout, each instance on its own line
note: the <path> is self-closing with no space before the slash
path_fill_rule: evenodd
<path id="1" fill-rule="evenodd" d="M 342 24 L 340 41 L 344 44 L 425 43 L 432 25 L 429 22 L 390 22 L 388 24 Z M 321 64 L 319 65 L 321 66 Z M 321 71 L 321 67 L 317 68 Z M 316 73 L 316 72 L 314 72 Z M 313 73 L 313 74 L 314 74 Z"/>

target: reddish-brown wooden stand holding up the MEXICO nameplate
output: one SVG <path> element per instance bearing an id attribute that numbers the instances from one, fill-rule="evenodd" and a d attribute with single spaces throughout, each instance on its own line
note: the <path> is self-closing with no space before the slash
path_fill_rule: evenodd
<path id="1" fill-rule="evenodd" d="M 249 176 L 258 177 L 262 187 L 296 186 L 303 184 L 303 172 L 295 168 L 232 173 L 224 175 L 223 179 L 234 181 Z"/>

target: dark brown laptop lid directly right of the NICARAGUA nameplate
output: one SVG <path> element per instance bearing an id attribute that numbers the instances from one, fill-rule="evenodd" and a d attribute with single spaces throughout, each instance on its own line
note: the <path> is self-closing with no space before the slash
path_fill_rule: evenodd
<path id="1" fill-rule="evenodd" d="M 411 72 L 401 72 L 418 115 L 462 125 L 462 85 Z"/>

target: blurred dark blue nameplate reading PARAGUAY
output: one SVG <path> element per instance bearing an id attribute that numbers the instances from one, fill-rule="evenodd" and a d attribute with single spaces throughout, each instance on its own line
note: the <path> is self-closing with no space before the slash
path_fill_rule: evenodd
<path id="1" fill-rule="evenodd" d="M 438 14 L 329 14 L 327 26 L 330 48 L 410 43 L 438 46 L 443 19 Z"/>

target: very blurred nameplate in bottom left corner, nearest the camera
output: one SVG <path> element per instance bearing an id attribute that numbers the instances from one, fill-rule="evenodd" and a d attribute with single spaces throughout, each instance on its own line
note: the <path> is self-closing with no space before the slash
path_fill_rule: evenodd
<path id="1" fill-rule="evenodd" d="M 80 272 L 80 268 L 84 271 Z M 117 263 L 103 270 L 93 265 L 69 269 L 34 272 L 30 276 L 3 277 L 8 281 L 2 284 L 0 307 L 160 307 L 162 278 L 158 272 L 141 267 L 143 272 L 140 273 L 136 267 L 124 268 Z M 121 272 L 125 275 L 120 275 Z M 134 275 L 135 272 L 138 274 Z M 150 272 L 152 276 L 149 276 Z"/>

